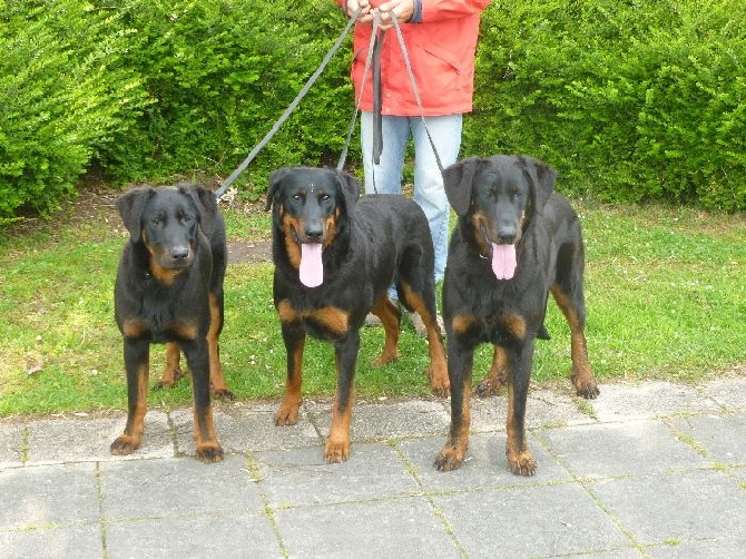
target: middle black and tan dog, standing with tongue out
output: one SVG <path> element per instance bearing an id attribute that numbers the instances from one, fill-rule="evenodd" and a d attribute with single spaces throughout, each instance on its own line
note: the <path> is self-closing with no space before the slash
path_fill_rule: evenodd
<path id="1" fill-rule="evenodd" d="M 333 169 L 282 168 L 269 177 L 274 302 L 287 351 L 285 395 L 275 423 L 297 421 L 306 334 L 332 342 L 337 386 L 324 450 L 330 462 L 350 455 L 360 330 L 369 312 L 381 318 L 385 332 L 374 364 L 399 357 L 401 314 L 387 296 L 392 282 L 399 301 L 416 311 L 428 328 L 433 390 L 441 395 L 449 390 L 424 213 L 402 196 L 359 196 L 357 179 Z"/>

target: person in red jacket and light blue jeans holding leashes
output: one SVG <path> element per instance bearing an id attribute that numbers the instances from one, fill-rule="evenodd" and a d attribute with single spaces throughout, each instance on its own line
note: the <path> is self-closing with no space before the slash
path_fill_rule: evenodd
<path id="1" fill-rule="evenodd" d="M 455 163 L 461 148 L 462 115 L 472 110 L 474 53 L 481 12 L 490 0 L 336 0 L 352 16 L 361 13 L 353 39 L 352 79 L 361 101 L 361 144 L 365 192 L 399 194 L 404 154 L 414 144 L 414 199 L 428 220 L 435 249 L 435 282 L 443 278 L 448 254 L 449 204 L 433 148 L 443 168 Z M 418 106 L 404 57 L 393 27 L 392 13 L 409 52 L 422 112 Z M 383 149 L 373 163 L 373 86 L 363 84 L 371 45 L 373 17 L 380 19 L 381 114 Z M 362 96 L 361 96 L 361 87 Z"/>

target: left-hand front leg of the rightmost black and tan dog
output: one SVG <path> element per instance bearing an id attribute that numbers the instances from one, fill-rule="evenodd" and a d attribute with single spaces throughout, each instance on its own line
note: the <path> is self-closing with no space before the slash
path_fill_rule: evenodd
<path id="1" fill-rule="evenodd" d="M 474 347 L 451 335 L 448 344 L 448 375 L 451 383 L 451 426 L 435 468 L 448 472 L 461 468 L 469 449 L 471 424 L 471 376 Z"/>

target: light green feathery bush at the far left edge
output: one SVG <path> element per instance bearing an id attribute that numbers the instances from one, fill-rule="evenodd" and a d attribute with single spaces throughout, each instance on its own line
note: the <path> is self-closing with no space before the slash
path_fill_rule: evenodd
<path id="1" fill-rule="evenodd" d="M 147 105 L 116 20 L 81 0 L 0 0 L 0 225 L 72 195 Z"/>

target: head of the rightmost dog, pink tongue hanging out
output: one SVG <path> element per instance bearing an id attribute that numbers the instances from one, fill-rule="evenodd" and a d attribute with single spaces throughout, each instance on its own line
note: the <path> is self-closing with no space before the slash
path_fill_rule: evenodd
<path id="1" fill-rule="evenodd" d="M 513 276 L 516 246 L 551 196 L 554 178 L 552 168 L 526 156 L 472 157 L 443 170 L 449 203 L 498 280 Z"/>

